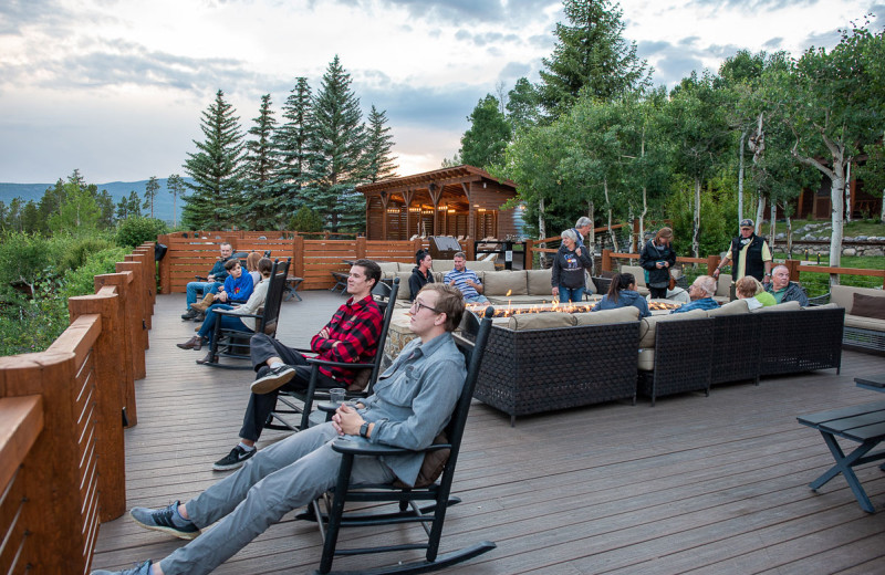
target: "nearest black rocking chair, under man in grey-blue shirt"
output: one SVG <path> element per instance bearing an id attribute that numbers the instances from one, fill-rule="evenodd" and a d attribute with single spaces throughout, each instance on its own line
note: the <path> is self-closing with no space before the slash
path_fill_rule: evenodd
<path id="1" fill-rule="evenodd" d="M 467 362 L 467 378 L 461 396 L 451 415 L 451 420 L 445 429 L 445 437 L 448 439 L 448 442 L 434 443 L 425 450 L 425 453 L 445 449 L 450 450 L 438 481 L 436 478 L 428 478 L 429 481 L 426 482 L 427 484 L 416 484 L 413 488 L 393 483 L 352 489 L 350 488 L 350 477 L 355 456 L 382 457 L 406 453 L 408 451 L 375 443 L 357 445 L 346 439 L 337 439 L 334 441 L 332 448 L 343 454 L 337 483 L 332 491 L 325 493 L 320 500 L 314 501 L 308 512 L 298 516 L 298 519 L 313 521 L 316 521 L 319 518 L 317 526 L 320 527 L 324 544 L 320 568 L 315 573 L 330 573 L 332 569 L 332 561 L 336 555 L 360 555 L 409 550 L 426 550 L 425 558 L 414 563 L 399 562 L 385 567 L 360 569 L 358 573 L 428 573 L 450 567 L 451 565 L 473 558 L 496 547 L 494 543 L 482 541 L 458 551 L 439 554 L 439 542 L 442 536 L 442 524 L 446 520 L 446 511 L 449 505 L 460 502 L 459 498 L 450 496 L 451 483 L 455 478 L 455 466 L 458 462 L 458 452 L 460 451 L 461 438 L 464 437 L 464 429 L 467 424 L 467 414 L 470 410 L 473 388 L 479 377 L 482 354 L 486 351 L 486 344 L 489 338 L 489 333 L 491 332 L 492 315 L 492 307 L 486 310 L 485 318 L 481 322 L 472 313 L 466 313 L 464 322 L 461 323 L 461 335 L 455 336 L 456 343 Z M 437 438 L 437 440 L 439 440 L 439 438 Z M 344 504 L 347 501 L 357 501 L 362 503 L 397 503 L 398 511 L 392 510 L 389 512 L 378 513 L 366 512 L 365 509 L 348 511 L 344 509 Z M 418 504 L 418 502 L 421 501 L 429 502 L 429 504 L 421 506 Z M 427 541 L 424 543 L 382 545 L 377 547 L 337 548 L 337 539 L 341 527 L 400 523 L 421 523 L 424 531 L 427 533 Z M 335 573 L 343 574 L 345 572 Z"/>

